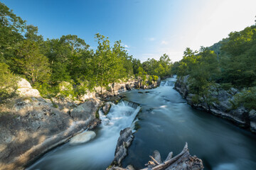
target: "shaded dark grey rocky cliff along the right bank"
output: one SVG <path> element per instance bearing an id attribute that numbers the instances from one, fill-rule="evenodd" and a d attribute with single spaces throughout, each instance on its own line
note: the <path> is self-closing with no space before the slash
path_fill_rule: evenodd
<path id="1" fill-rule="evenodd" d="M 215 84 L 208 91 L 208 96 L 212 98 L 210 102 L 206 98 L 203 98 L 203 96 L 199 96 L 198 101 L 193 100 L 195 94 L 191 94 L 189 91 L 188 76 L 178 78 L 174 89 L 186 98 L 188 104 L 193 108 L 208 111 L 213 115 L 231 120 L 243 128 L 250 128 L 252 132 L 256 132 L 256 112 L 254 110 L 248 111 L 243 106 L 233 108 L 234 95 L 240 93 L 238 89 L 231 88 L 225 91 L 220 88 L 220 84 Z"/>

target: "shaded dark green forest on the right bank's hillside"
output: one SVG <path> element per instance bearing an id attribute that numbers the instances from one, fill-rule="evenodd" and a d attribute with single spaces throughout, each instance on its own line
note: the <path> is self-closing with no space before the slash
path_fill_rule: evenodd
<path id="1" fill-rule="evenodd" d="M 232 32 L 228 38 L 199 51 L 186 48 L 183 59 L 174 62 L 172 72 L 178 77 L 189 75 L 193 94 L 207 95 L 208 91 L 220 84 L 228 90 L 237 88 L 235 106 L 244 104 L 256 109 L 256 26 L 239 32 Z"/>

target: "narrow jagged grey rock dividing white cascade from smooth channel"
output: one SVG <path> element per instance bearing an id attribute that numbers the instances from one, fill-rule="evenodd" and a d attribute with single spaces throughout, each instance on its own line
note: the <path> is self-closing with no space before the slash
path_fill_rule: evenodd
<path id="1" fill-rule="evenodd" d="M 131 128 L 121 130 L 120 137 L 117 141 L 117 147 L 114 152 L 113 165 L 121 166 L 122 159 L 127 156 L 127 147 L 131 145 L 133 137 Z"/>

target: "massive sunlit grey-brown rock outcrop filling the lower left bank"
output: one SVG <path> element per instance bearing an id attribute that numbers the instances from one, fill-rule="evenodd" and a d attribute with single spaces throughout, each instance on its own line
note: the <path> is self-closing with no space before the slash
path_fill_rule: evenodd
<path id="1" fill-rule="evenodd" d="M 31 91 L 28 81 L 19 87 Z M 97 98 L 80 103 L 30 92 L 9 99 L 0 106 L 0 169 L 23 169 L 49 149 L 94 128 L 100 123 L 99 106 Z"/>

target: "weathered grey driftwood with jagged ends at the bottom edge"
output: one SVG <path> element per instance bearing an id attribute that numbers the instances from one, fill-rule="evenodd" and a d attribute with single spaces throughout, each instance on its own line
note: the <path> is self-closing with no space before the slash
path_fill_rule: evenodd
<path id="1" fill-rule="evenodd" d="M 158 151 L 154 151 L 153 156 L 149 156 L 151 160 L 145 165 L 147 166 L 141 170 L 182 170 L 182 169 L 191 169 L 198 170 L 203 169 L 203 162 L 201 159 L 198 159 L 196 156 L 191 156 L 188 152 L 188 144 L 184 146 L 181 153 L 177 154 L 175 157 L 172 157 L 173 152 L 170 152 L 164 162 L 161 162 L 161 156 Z M 127 168 L 122 168 L 119 166 L 112 166 L 107 168 L 107 170 L 134 170 L 132 166 L 127 166 Z"/>

